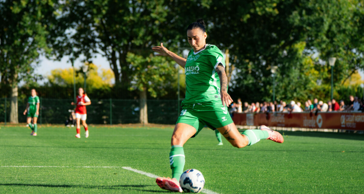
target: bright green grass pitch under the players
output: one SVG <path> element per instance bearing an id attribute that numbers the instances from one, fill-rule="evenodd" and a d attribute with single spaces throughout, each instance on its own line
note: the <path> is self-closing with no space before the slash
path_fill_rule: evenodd
<path id="1" fill-rule="evenodd" d="M 30 136 L 29 128 L 1 126 L 0 193 L 170 193 L 152 177 L 171 174 L 173 127 L 89 129 L 76 139 L 74 128 L 43 125 Z M 185 169 L 203 173 L 205 193 L 364 193 L 364 135 L 284 138 L 237 149 L 225 139 L 217 146 L 206 128 L 185 144 Z"/>

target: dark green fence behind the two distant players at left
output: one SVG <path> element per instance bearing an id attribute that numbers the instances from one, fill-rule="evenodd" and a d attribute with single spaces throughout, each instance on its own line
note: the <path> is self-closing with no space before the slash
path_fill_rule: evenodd
<path id="1" fill-rule="evenodd" d="M 27 99 L 18 99 L 18 118 L 20 123 L 26 122 L 23 115 Z M 72 99 L 40 98 L 39 124 L 61 124 L 70 116 L 68 110 L 74 109 Z M 120 124 L 139 122 L 139 100 L 101 99 L 93 100 L 87 106 L 87 123 L 91 124 Z M 179 112 L 178 100 L 147 100 L 148 122 L 158 124 L 175 124 Z M 5 124 L 10 118 L 10 99 L 0 99 L 0 118 Z"/>

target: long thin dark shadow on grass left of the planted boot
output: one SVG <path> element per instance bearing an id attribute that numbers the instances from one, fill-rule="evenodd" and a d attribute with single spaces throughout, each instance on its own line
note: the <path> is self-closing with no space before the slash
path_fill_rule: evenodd
<path id="1" fill-rule="evenodd" d="M 141 190 L 136 188 L 144 188 L 155 185 L 110 185 L 110 186 L 96 186 L 96 185 L 49 185 L 49 184 L 21 184 L 21 183 L 0 183 L 0 186 L 30 186 L 30 187 L 59 187 L 59 188 L 84 188 L 84 189 L 127 189 L 127 190 L 138 190 L 148 192 L 168 192 L 169 191 L 156 191 L 156 190 Z M 132 189 L 135 188 L 135 189 Z"/>

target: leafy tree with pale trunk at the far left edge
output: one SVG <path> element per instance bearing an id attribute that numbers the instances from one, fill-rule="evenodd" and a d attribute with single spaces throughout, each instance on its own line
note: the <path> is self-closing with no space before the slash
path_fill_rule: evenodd
<path id="1" fill-rule="evenodd" d="M 18 83 L 29 78 L 41 52 L 50 53 L 47 36 L 57 15 L 57 1 L 0 1 L 1 88 L 11 87 L 10 122 L 18 123 Z"/>

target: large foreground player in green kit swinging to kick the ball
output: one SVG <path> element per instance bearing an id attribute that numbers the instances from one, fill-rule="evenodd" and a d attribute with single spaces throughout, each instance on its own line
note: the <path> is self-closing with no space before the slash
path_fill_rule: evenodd
<path id="1" fill-rule="evenodd" d="M 182 192 L 179 177 L 185 165 L 183 144 L 196 136 L 206 125 L 218 130 L 235 147 L 241 148 L 257 143 L 260 139 L 283 142 L 282 135 L 262 125 L 260 130 L 246 130 L 240 134 L 231 119 L 227 106 L 233 100 L 227 94 L 227 77 L 222 52 L 211 44 L 206 44 L 207 34 L 202 19 L 187 27 L 187 39 L 192 50 L 187 59 L 167 50 L 163 46 L 155 46 L 153 51 L 158 55 L 169 56 L 186 74 L 186 98 L 182 101 L 183 109 L 177 119 L 171 138 L 169 161 L 172 178 L 158 177 L 156 182 L 162 189 Z"/>

